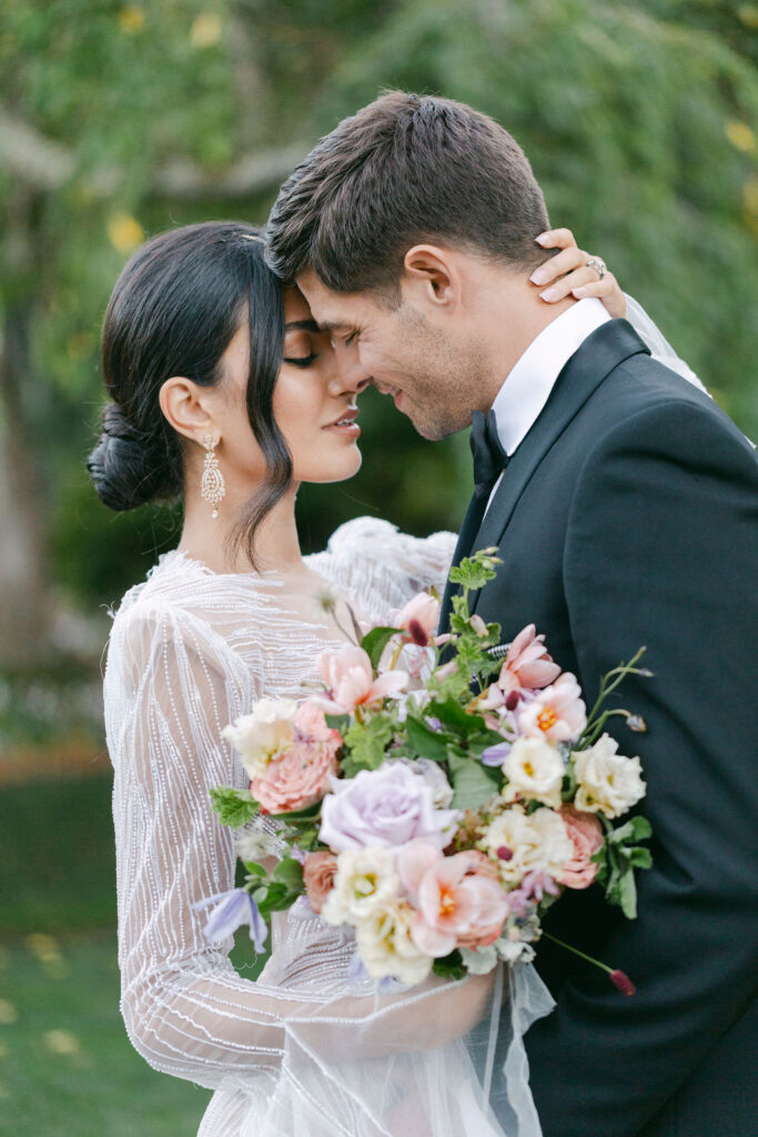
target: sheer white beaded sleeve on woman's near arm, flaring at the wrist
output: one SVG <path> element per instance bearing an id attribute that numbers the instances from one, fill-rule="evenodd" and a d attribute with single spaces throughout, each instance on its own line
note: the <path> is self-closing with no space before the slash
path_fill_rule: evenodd
<path id="1" fill-rule="evenodd" d="M 217 614 L 214 601 L 209 582 Z M 435 1119 L 435 1137 L 458 1137 L 464 1106 L 440 1087 L 468 1087 L 465 1107 L 485 1123 L 463 1038 L 492 1010 L 494 977 L 380 995 L 349 979 L 351 945 L 309 921 L 322 930 L 302 936 L 299 965 L 277 973 L 275 951 L 272 978 L 251 982 L 228 960 L 231 940 L 203 937 L 193 905 L 232 888 L 235 866 L 209 790 L 245 785 L 222 730 L 264 683 L 265 666 L 243 661 L 213 621 L 155 590 L 115 619 L 105 694 L 130 1038 L 156 1069 L 216 1089 L 202 1137 L 399 1137 L 408 1109 Z M 292 938 L 284 957 L 298 957 Z M 477 1131 L 501 1135 L 497 1123 Z"/>

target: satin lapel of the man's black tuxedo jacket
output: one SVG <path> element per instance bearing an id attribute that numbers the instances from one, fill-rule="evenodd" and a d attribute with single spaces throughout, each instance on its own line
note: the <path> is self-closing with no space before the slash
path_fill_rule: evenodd
<path id="1" fill-rule="evenodd" d="M 624 359 L 641 351 L 650 354 L 625 319 L 602 324 L 586 338 L 561 371 L 540 417 L 508 463 L 469 551 L 500 545 L 518 499 L 552 443 L 606 376 Z M 472 612 L 476 611 L 481 595 L 474 596 Z"/>

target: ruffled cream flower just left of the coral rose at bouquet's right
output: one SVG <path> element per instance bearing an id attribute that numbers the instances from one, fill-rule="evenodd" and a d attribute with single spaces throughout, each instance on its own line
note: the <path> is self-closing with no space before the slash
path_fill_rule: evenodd
<path id="1" fill-rule="evenodd" d="M 507 883 L 517 883 L 527 872 L 547 872 L 557 878 L 574 855 L 574 843 L 563 819 L 544 807 L 527 818 L 520 806 L 511 806 L 490 822 L 484 843 L 497 857 Z"/>

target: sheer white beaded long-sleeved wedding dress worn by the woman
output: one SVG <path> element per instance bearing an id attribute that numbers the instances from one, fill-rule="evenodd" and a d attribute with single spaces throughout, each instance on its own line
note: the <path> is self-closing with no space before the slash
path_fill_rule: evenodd
<path id="1" fill-rule="evenodd" d="M 442 589 L 453 546 L 451 533 L 420 540 L 358 518 L 307 562 L 361 617 L 386 621 L 417 591 Z M 193 905 L 232 888 L 235 870 L 209 790 L 245 786 L 222 730 L 263 696 L 303 697 L 335 640 L 317 600 L 293 599 L 276 573 L 215 574 L 169 553 L 126 594 L 105 703 L 128 1036 L 156 1069 L 216 1090 L 199 1137 L 539 1137 L 523 1047 L 508 1057 L 513 1113 L 493 1070 L 503 1024 L 523 1034 L 550 1009 L 532 968 L 506 977 L 511 1013 L 500 1015 L 502 974 L 360 988 L 349 937 L 317 919 L 275 919 L 257 982 L 233 970 L 231 940 L 202 935 Z"/>

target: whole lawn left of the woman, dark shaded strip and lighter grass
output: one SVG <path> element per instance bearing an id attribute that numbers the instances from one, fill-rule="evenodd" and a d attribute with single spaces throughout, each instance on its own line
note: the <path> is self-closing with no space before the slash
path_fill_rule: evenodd
<path id="1" fill-rule="evenodd" d="M 151 1070 L 118 1011 L 110 780 L 0 790 L 0 1135 L 194 1137 L 208 1092 Z"/>

